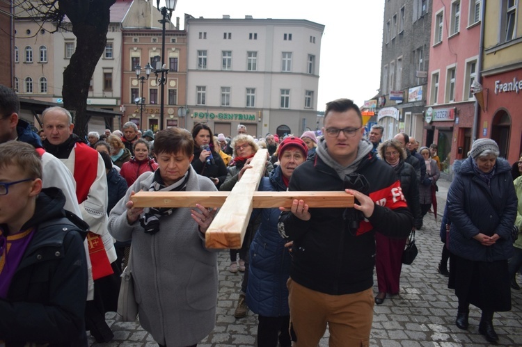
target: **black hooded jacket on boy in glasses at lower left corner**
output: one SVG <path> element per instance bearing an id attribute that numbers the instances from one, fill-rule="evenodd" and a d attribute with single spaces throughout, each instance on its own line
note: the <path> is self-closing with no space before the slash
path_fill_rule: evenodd
<path id="1" fill-rule="evenodd" d="M 84 237 L 88 225 L 72 213 L 65 218 L 58 188 L 38 195 L 24 229 L 36 226 L 16 270 L 6 300 L 0 299 L 0 340 L 49 346 L 86 346 L 84 311 L 87 266 Z"/>

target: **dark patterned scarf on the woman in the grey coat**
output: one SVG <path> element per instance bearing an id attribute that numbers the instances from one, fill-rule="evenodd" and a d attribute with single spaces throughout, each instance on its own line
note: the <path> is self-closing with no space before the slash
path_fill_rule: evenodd
<path id="1" fill-rule="evenodd" d="M 148 191 L 186 191 L 187 182 L 189 181 L 190 170 L 185 172 L 184 178 L 166 187 L 163 179 L 161 178 L 159 169 L 154 172 L 154 179 L 150 184 Z M 141 227 L 145 229 L 145 234 L 154 235 L 159 232 L 159 218 L 163 216 L 170 216 L 174 208 L 156 208 L 150 207 L 145 209 L 145 214 L 140 220 Z"/>

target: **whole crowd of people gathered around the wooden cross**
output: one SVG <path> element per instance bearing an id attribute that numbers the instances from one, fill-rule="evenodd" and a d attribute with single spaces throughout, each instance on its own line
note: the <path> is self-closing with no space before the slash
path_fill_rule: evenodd
<path id="1" fill-rule="evenodd" d="M 400 133 L 365 134 L 349 99 L 326 104 L 322 131 L 256 138 L 191 131 L 74 134 L 68 110 L 42 113 L 34 132 L 19 100 L 0 86 L 0 344 L 86 346 L 109 342 L 105 313 L 116 311 L 120 273 L 129 264 L 140 323 L 159 346 L 197 346 L 216 321 L 217 250 L 205 233 L 218 213 L 135 207 L 139 191 L 231 191 L 267 149 L 259 191 L 346 191 L 353 208 L 255 209 L 242 247 L 230 250 L 230 273 L 242 273 L 234 316 L 258 315 L 258 346 L 367 346 L 374 305 L 400 293 L 402 254 L 411 232 L 436 213 L 440 160 Z M 510 287 L 522 265 L 522 157 L 499 158 L 493 140 L 475 140 L 455 177 L 441 221 L 438 272 L 468 329 L 470 304 L 479 331 L 495 343 L 493 314 L 511 309 Z M 514 179 L 514 181 L 513 181 Z M 13 199 L 13 197 L 15 197 Z M 33 257 L 33 255 L 36 255 Z M 450 259 L 450 266 L 447 262 Z M 374 296 L 374 268 L 377 296 Z M 30 312 L 31 318 L 28 316 Z M 313 314 L 310 314 L 313 312 Z"/>

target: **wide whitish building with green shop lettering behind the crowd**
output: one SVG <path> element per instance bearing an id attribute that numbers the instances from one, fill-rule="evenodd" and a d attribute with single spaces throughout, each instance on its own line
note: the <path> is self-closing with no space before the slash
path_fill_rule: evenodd
<path id="1" fill-rule="evenodd" d="M 187 129 L 235 136 L 301 134 L 317 126 L 324 26 L 302 19 L 189 17 Z"/>

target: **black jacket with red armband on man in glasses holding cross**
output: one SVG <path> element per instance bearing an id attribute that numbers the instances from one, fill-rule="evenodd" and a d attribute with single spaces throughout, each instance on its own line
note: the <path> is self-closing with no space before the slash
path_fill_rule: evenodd
<path id="1" fill-rule="evenodd" d="M 393 168 L 370 153 L 356 173 L 370 184 L 369 196 L 376 202 L 369 220 L 358 229 L 349 227 L 355 209 L 310 209 L 308 221 L 283 212 L 280 223 L 294 241 L 290 277 L 322 293 L 358 293 L 373 285 L 375 265 L 374 232 L 405 238 L 413 225 L 411 212 L 400 192 Z M 345 184 L 333 168 L 318 156 L 301 164 L 290 179 L 290 191 L 344 191 Z"/>

